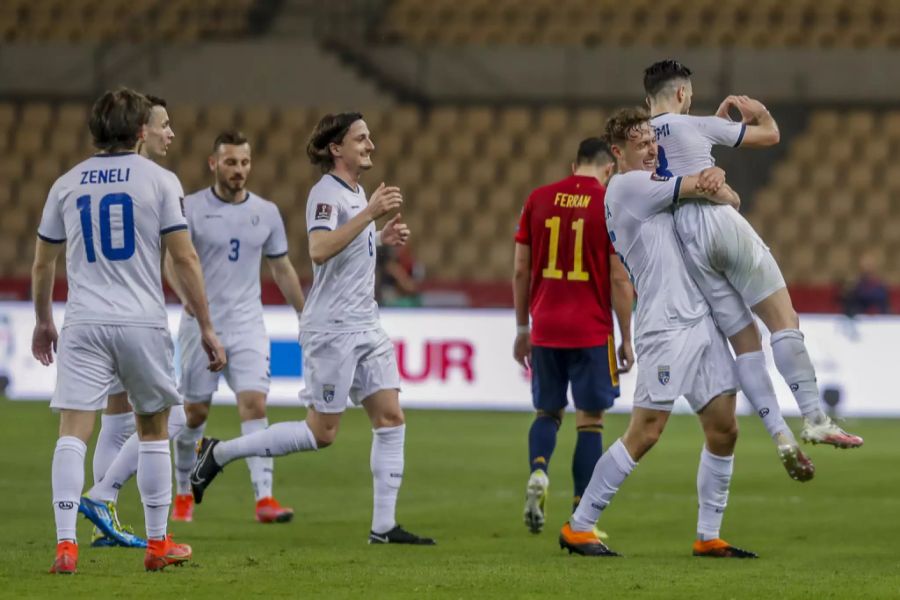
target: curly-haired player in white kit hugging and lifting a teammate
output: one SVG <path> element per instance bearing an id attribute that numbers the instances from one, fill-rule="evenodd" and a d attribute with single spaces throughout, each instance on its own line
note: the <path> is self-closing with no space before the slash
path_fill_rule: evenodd
<path id="1" fill-rule="evenodd" d="M 684 396 L 706 437 L 697 471 L 700 508 L 694 555 L 755 558 L 719 537 L 734 467 L 738 382 L 728 343 L 685 267 L 672 216 L 681 198 L 705 197 L 733 206 L 740 200 L 715 167 L 684 177 L 657 175 L 657 145 L 649 120 L 644 109 L 626 108 L 606 123 L 606 140 L 619 172 L 606 191 L 606 226 L 638 298 L 634 409 L 625 435 L 597 461 L 559 543 L 570 553 L 616 555 L 594 527 L 637 461 L 659 439 L 675 400 Z"/>

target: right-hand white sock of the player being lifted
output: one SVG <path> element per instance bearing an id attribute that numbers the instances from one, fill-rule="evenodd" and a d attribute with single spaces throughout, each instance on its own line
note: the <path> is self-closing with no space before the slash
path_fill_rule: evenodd
<path id="1" fill-rule="evenodd" d="M 803 334 L 799 329 L 782 329 L 772 334 L 771 344 L 775 367 L 791 388 L 800 412 L 813 423 L 821 423 L 825 413 L 819 403 L 816 370 L 803 343 Z"/>

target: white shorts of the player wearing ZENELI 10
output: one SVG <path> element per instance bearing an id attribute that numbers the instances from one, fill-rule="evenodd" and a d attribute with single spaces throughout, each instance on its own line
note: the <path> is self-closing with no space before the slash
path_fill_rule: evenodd
<path id="1" fill-rule="evenodd" d="M 169 330 L 93 324 L 63 327 L 51 408 L 102 410 L 117 377 L 138 414 L 152 415 L 181 404 Z"/>

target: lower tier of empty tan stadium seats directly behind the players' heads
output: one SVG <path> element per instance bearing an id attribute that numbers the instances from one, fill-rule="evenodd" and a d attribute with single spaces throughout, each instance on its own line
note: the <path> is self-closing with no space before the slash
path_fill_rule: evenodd
<path id="1" fill-rule="evenodd" d="M 279 205 L 291 258 L 304 278 L 311 275 L 305 201 L 320 176 L 305 148 L 321 114 L 262 106 L 181 105 L 170 111 L 176 138 L 166 166 L 188 192 L 209 185 L 206 158 L 220 130 L 236 126 L 249 136 L 250 188 Z M 86 117 L 81 104 L 0 103 L 0 150 L 6 157 L 0 162 L 0 277 L 28 275 L 50 185 L 92 151 Z M 365 111 L 365 118 L 376 166 L 364 185 L 371 190 L 386 181 L 402 188 L 403 214 L 428 280 L 500 282 L 508 294 L 522 203 L 532 188 L 569 173 L 578 142 L 601 130 L 605 113 L 400 106 Z M 852 279 L 865 251 L 880 261 L 889 284 L 900 285 L 900 229 L 891 225 L 900 217 L 900 171 L 889 162 L 900 152 L 900 111 L 818 110 L 806 130 L 786 143 L 785 158 L 745 204 L 788 282 Z"/>

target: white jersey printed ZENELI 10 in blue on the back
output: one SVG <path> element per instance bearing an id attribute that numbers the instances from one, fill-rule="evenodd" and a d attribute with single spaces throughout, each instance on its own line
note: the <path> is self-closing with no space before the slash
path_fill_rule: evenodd
<path id="1" fill-rule="evenodd" d="M 56 180 L 38 227 L 66 242 L 65 325 L 167 327 L 161 235 L 187 229 L 174 173 L 133 152 L 98 154 Z"/>

